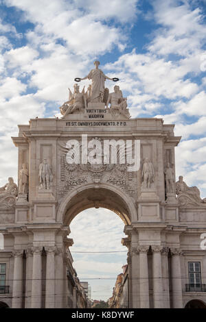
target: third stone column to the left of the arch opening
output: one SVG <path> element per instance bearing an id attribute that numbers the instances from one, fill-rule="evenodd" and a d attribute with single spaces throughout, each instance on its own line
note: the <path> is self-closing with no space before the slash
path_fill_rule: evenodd
<path id="1" fill-rule="evenodd" d="M 41 247 L 33 247 L 33 270 L 32 270 L 32 303 L 31 308 L 41 308 Z"/>

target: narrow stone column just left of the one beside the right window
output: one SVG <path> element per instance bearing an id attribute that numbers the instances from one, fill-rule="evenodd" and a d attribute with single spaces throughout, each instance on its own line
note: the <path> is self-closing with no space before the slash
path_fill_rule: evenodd
<path id="1" fill-rule="evenodd" d="M 161 256 L 161 258 L 162 258 L 164 308 L 170 308 L 168 251 L 169 251 L 168 247 L 163 247 L 162 256 Z"/>

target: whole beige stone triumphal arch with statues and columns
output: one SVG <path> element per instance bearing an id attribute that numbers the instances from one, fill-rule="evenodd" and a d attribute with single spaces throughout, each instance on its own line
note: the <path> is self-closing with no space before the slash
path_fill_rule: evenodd
<path id="1" fill-rule="evenodd" d="M 19 178 L 0 190 L 0 302 L 67 307 L 69 224 L 103 207 L 125 224 L 130 308 L 204 306 L 206 203 L 183 177 L 176 182 L 181 137 L 163 119 L 131 119 L 118 83 L 106 88 L 118 79 L 99 64 L 76 78 L 60 117 L 30 119 L 12 138 Z"/>

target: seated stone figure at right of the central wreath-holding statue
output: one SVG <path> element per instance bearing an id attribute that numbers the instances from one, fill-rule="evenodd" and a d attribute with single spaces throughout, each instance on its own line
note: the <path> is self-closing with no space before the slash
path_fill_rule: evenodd
<path id="1" fill-rule="evenodd" d="M 108 108 L 108 103 L 111 104 L 111 110 L 118 110 L 121 114 L 126 117 L 130 117 L 130 113 L 127 109 L 126 98 L 122 95 L 122 90 L 119 90 L 119 86 L 114 87 L 114 92 L 111 92 L 108 95 L 108 99 L 106 102 L 106 108 Z"/>

